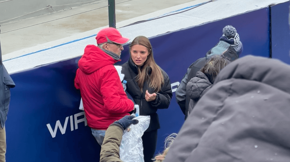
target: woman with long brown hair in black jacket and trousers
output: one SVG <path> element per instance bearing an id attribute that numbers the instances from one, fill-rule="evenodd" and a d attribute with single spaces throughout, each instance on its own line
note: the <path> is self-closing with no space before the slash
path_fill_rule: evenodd
<path id="1" fill-rule="evenodd" d="M 148 38 L 136 37 L 130 45 L 130 59 L 122 65 L 122 74 L 127 81 L 126 91 L 139 105 L 140 115 L 150 115 L 150 124 L 142 136 L 144 160 L 150 162 L 160 129 L 157 109 L 167 109 L 172 97 L 168 75 L 154 61 Z"/>

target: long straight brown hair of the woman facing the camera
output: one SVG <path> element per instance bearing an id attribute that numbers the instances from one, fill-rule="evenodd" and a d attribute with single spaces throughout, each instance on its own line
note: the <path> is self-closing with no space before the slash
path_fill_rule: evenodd
<path id="1" fill-rule="evenodd" d="M 161 71 L 161 68 L 155 63 L 153 58 L 152 46 L 148 38 L 144 36 L 136 37 L 130 45 L 130 59 L 131 57 L 131 47 L 134 45 L 142 45 L 148 49 L 148 56 L 146 61 L 143 64 L 142 69 L 138 67 L 137 83 L 143 93 L 143 86 L 145 81 L 150 81 L 149 87 L 153 88 L 157 93 L 161 90 L 161 86 L 164 84 L 164 77 Z M 151 74 L 149 75 L 149 69 L 151 68 Z"/>

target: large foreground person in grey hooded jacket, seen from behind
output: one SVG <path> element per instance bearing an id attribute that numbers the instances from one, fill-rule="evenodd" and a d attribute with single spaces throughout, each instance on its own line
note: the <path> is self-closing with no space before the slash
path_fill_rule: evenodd
<path id="1" fill-rule="evenodd" d="M 220 71 L 164 162 L 290 161 L 290 66 L 245 56 Z"/>

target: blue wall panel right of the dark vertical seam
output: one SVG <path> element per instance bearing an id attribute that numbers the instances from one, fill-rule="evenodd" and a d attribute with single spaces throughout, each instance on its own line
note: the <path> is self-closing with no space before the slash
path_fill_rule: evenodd
<path id="1" fill-rule="evenodd" d="M 272 58 L 287 64 L 290 64 L 289 5 L 288 1 L 271 7 Z"/>

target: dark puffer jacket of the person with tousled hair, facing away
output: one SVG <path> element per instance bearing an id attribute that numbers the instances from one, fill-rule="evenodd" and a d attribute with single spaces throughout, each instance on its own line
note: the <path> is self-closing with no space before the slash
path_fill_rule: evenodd
<path id="1" fill-rule="evenodd" d="M 197 101 L 202 97 L 213 84 L 209 81 L 209 78 L 197 71 L 196 77 L 192 78 L 186 85 L 186 93 L 189 94 L 190 102 L 188 107 L 188 115 L 191 113 Z"/>

